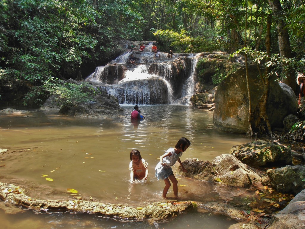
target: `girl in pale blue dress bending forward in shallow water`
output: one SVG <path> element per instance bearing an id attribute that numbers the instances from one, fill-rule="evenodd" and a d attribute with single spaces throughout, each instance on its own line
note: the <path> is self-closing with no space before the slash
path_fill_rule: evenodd
<path id="1" fill-rule="evenodd" d="M 191 142 L 188 139 L 180 138 L 175 148 L 170 147 L 167 151 L 165 151 L 165 154 L 160 157 L 160 162 L 156 166 L 156 177 L 158 180 L 161 178 L 165 182 L 163 198 L 166 198 L 167 191 L 170 188 L 170 180 L 173 183 L 174 195 L 175 197 L 178 197 L 178 181 L 173 173 L 173 169 L 170 166 L 173 166 L 178 161 L 183 172 L 187 172 L 179 157 L 182 156 L 182 153 L 186 151 L 190 145 Z"/>

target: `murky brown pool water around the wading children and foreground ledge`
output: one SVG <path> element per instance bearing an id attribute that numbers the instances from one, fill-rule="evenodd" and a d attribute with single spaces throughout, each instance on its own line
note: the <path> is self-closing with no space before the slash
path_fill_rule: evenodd
<path id="1" fill-rule="evenodd" d="M 146 119 L 132 123 L 133 106 L 122 108 L 123 118 L 114 119 L 43 112 L 1 115 L 0 148 L 8 152 L 0 154 L 0 181 L 24 187 L 28 196 L 36 198 L 74 199 L 66 191 L 73 188 L 85 200 L 144 206 L 162 200 L 164 182 L 155 179 L 154 168 L 160 155 L 174 147 L 180 137 L 191 141 L 181 161 L 212 160 L 228 153 L 234 145 L 252 141 L 214 129 L 213 111 L 181 105 L 140 106 Z M 145 183 L 128 182 L 131 149 L 138 149 L 149 163 L 149 179 Z M 228 201 L 232 197 L 232 193 L 228 194 L 232 189 L 224 194 L 210 183 L 177 177 L 181 200 Z M 173 196 L 172 188 L 167 195 Z M 2 228 L 228 228 L 235 223 L 199 211 L 200 208 L 159 225 L 122 223 L 89 214 L 36 215 L 26 211 L 8 215 L 2 210 L 0 221 Z"/>

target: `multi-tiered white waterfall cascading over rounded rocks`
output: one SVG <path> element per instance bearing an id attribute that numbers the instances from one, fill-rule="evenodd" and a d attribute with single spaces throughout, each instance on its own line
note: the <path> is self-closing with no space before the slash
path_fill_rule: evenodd
<path id="1" fill-rule="evenodd" d="M 197 57 L 194 54 L 167 53 L 155 57 L 152 43 L 143 52 L 128 51 L 96 67 L 86 78 L 96 87 L 116 96 L 120 104 L 189 104 L 194 93 Z M 131 54 L 136 64 L 129 63 Z"/>

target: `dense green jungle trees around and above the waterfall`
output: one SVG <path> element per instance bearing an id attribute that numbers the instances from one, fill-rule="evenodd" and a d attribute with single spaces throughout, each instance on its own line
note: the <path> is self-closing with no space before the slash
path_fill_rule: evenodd
<path id="1" fill-rule="evenodd" d="M 58 80 L 88 76 L 118 56 L 120 40 L 156 41 L 163 52 L 239 50 L 296 93 L 304 73 L 303 0 L 2 0 L 0 11 L 1 106 L 77 90 Z"/>

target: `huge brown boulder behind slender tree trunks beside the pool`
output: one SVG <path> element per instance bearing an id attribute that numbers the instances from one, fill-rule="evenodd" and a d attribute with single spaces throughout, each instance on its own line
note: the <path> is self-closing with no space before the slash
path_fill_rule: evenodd
<path id="1" fill-rule="evenodd" d="M 264 89 L 257 66 L 249 66 L 249 85 L 253 120 L 256 120 L 259 99 Z M 279 84 L 271 77 L 266 107 L 271 128 L 282 128 L 284 118 L 296 114 L 297 107 L 296 96 L 292 89 L 285 84 Z M 215 95 L 214 126 L 228 132 L 246 133 L 249 127 L 248 112 L 246 71 L 245 68 L 241 68 L 218 85 Z M 251 123 L 253 131 L 258 132 L 259 126 L 256 125 L 255 121 Z"/>

